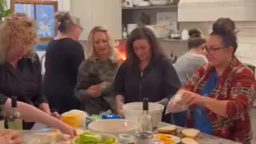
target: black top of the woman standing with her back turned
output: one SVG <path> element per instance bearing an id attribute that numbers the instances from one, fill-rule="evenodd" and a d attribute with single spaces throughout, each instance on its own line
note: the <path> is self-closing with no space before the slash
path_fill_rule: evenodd
<path id="1" fill-rule="evenodd" d="M 59 113 L 79 108 L 74 96 L 78 68 L 84 60 L 82 45 L 71 38 L 52 40 L 45 59 L 44 92 L 50 107 Z"/>

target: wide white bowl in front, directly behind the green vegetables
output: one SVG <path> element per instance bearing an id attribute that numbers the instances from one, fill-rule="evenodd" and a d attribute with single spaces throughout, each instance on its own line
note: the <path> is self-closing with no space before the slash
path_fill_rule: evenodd
<path id="1" fill-rule="evenodd" d="M 95 133 L 106 133 L 118 136 L 119 134 L 135 135 L 139 125 L 137 122 L 122 119 L 99 120 L 91 122 L 88 130 Z"/>

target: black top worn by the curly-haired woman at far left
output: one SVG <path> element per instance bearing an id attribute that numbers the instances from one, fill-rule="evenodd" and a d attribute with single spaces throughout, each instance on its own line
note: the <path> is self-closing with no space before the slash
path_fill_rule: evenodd
<path id="1" fill-rule="evenodd" d="M 38 56 L 35 59 L 23 57 L 18 61 L 17 68 L 10 63 L 0 65 L 0 93 L 11 98 L 38 107 L 47 103 L 42 94 L 42 74 Z"/>

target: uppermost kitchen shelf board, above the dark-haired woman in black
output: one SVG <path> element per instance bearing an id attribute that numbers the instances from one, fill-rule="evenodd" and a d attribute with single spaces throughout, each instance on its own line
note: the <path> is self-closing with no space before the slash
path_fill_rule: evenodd
<path id="1" fill-rule="evenodd" d="M 178 8 L 178 5 L 162 5 L 162 6 L 134 6 L 134 7 L 125 7 L 122 6 L 122 10 L 148 10 L 148 9 L 172 9 Z"/>

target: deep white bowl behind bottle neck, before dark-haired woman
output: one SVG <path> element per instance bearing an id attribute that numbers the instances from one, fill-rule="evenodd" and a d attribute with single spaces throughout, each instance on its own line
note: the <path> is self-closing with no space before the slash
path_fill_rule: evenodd
<path id="1" fill-rule="evenodd" d="M 141 114 L 142 114 L 142 102 L 132 102 L 128 104 L 124 104 L 124 117 L 126 120 L 131 120 L 134 122 L 138 122 Z M 162 113 L 164 111 L 164 106 L 158 103 L 149 103 L 149 114 L 153 118 L 153 127 L 157 127 L 161 122 Z"/>

